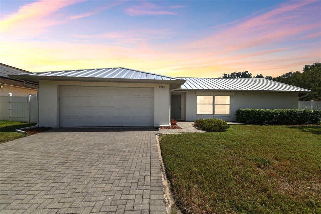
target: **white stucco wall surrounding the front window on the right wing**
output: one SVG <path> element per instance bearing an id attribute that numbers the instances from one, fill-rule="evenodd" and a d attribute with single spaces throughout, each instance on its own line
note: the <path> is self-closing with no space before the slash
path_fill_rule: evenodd
<path id="1" fill-rule="evenodd" d="M 212 95 L 215 95 L 215 92 Z M 297 109 L 298 93 L 235 92 L 231 96 L 231 115 L 215 116 L 215 118 L 235 121 L 235 111 L 240 108 Z M 202 119 L 203 117 L 213 118 L 213 115 L 197 115 L 196 93 L 195 91 L 186 92 L 186 120 Z"/>

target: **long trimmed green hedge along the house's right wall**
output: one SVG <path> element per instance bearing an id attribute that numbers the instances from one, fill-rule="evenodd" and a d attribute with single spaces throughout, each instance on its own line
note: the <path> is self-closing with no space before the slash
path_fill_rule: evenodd
<path id="1" fill-rule="evenodd" d="M 236 121 L 256 125 L 317 124 L 321 111 L 308 109 L 238 109 Z"/>

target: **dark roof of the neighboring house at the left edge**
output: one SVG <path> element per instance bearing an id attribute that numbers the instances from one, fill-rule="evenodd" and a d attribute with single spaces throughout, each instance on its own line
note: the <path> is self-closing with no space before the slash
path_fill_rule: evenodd
<path id="1" fill-rule="evenodd" d="M 1 85 L 12 85 L 22 88 L 28 88 L 32 90 L 36 90 L 35 88 L 32 88 L 30 86 L 26 86 L 23 84 L 23 81 L 20 79 L 15 79 L 12 77 L 9 77 L 9 75 L 17 75 L 17 74 L 32 74 L 29 71 L 22 70 L 20 68 L 12 67 L 3 63 L 0 63 L 0 84 Z M 38 84 L 32 84 L 32 85 L 38 85 Z"/>

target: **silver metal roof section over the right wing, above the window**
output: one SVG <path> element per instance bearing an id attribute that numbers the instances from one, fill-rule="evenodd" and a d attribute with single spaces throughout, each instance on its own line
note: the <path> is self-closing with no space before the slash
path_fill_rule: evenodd
<path id="1" fill-rule="evenodd" d="M 186 80 L 181 86 L 182 90 L 310 92 L 304 88 L 264 78 L 180 78 Z"/>

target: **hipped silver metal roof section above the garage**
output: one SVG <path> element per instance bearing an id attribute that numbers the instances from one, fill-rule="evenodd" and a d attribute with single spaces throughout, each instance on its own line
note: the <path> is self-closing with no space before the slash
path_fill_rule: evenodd
<path id="1" fill-rule="evenodd" d="M 98 77 L 120 79 L 146 79 L 146 80 L 182 80 L 180 78 L 153 74 L 124 67 L 95 68 L 81 70 L 48 71 L 18 74 L 19 76 L 70 76 L 70 77 Z"/>

